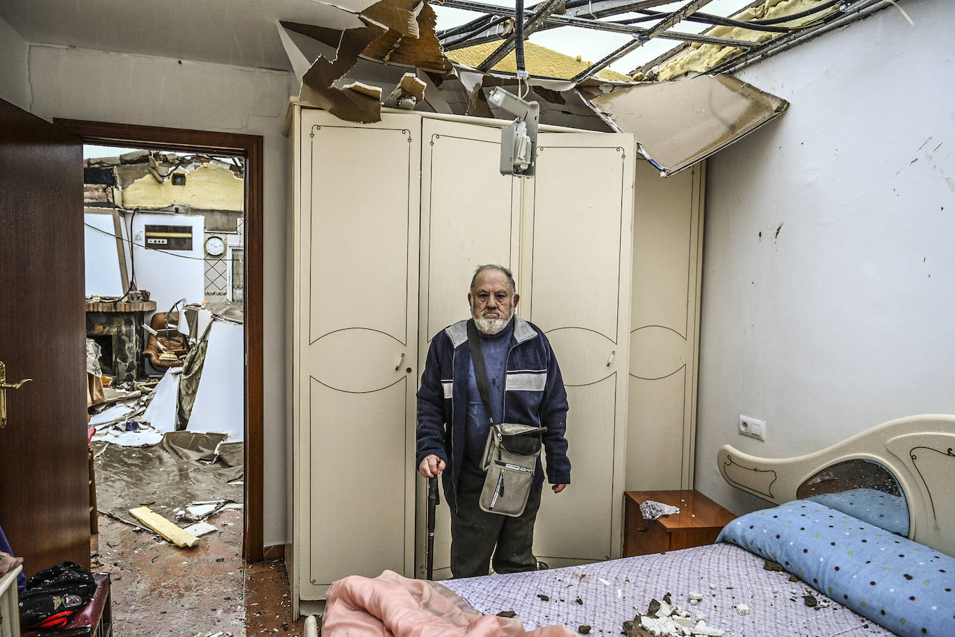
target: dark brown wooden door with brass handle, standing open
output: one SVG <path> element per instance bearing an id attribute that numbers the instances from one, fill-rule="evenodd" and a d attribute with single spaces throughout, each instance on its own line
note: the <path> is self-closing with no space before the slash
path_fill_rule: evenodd
<path id="1" fill-rule="evenodd" d="M 28 575 L 90 565 L 79 138 L 0 100 L 0 526 Z"/>

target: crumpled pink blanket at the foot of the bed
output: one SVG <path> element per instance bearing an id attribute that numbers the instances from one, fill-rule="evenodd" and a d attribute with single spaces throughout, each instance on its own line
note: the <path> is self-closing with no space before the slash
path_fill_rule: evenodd
<path id="1" fill-rule="evenodd" d="M 518 618 L 482 615 L 441 584 L 393 571 L 370 579 L 352 575 L 329 587 L 325 637 L 572 637 L 564 626 L 525 631 Z"/>

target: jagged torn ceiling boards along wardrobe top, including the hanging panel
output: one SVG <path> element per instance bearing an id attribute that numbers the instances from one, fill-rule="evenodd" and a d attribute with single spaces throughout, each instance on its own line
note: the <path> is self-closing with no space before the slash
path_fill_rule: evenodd
<path id="1" fill-rule="evenodd" d="M 410 110 L 426 104 L 435 113 L 455 115 L 441 89 L 446 78 L 453 76 L 457 88 L 452 92 L 456 92 L 460 109 L 457 115 L 486 118 L 495 115 L 484 89 L 516 81 L 507 72 L 484 73 L 449 60 L 437 42 L 435 13 L 427 3 L 381 0 L 357 16 L 365 26 L 342 32 L 279 23 L 289 61 L 302 77 L 300 95 L 292 103 L 317 106 L 346 121 L 361 123 L 381 120 L 382 96 L 387 96 L 384 101 L 388 107 Z M 318 53 L 309 64 L 301 36 L 324 50 L 333 49 L 334 58 L 329 60 L 330 55 Z M 405 66 L 410 72 L 384 91 L 366 83 L 361 76 L 345 81 L 360 58 Z M 778 117 L 789 106 L 786 100 L 729 75 L 697 75 L 677 82 L 637 84 L 596 78 L 575 83 L 532 76 L 529 83 L 539 89 L 535 97 L 542 105 L 573 117 L 571 107 L 561 107 L 565 104 L 564 96 L 576 97 L 582 105 L 577 107 L 577 117 L 591 117 L 584 115 L 590 112 L 609 130 L 633 134 L 641 153 L 663 177 L 710 157 Z M 291 108 L 286 117 L 286 136 L 290 129 Z"/>

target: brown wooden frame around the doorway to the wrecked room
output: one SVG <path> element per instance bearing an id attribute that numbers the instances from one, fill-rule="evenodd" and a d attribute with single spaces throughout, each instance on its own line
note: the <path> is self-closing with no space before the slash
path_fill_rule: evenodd
<path id="1" fill-rule="evenodd" d="M 190 153 L 240 155 L 245 159 L 244 202 L 244 345 L 245 476 L 243 557 L 261 562 L 263 546 L 263 186 L 264 142 L 258 135 L 192 131 L 80 119 L 53 118 L 53 123 L 83 143 L 159 148 Z"/>

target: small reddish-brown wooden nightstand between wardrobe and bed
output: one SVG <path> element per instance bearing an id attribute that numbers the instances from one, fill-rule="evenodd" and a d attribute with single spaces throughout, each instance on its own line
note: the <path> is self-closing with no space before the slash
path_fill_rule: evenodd
<path id="1" fill-rule="evenodd" d="M 680 513 L 644 520 L 641 502 L 651 499 L 680 507 Z M 627 491 L 624 494 L 624 557 L 711 544 L 735 519 L 698 491 Z"/>

